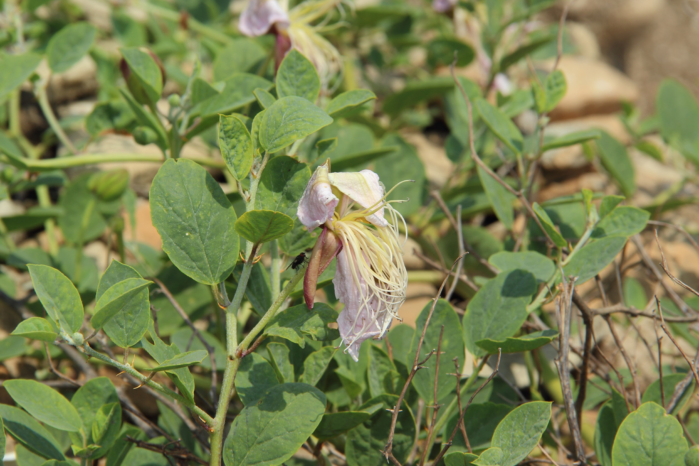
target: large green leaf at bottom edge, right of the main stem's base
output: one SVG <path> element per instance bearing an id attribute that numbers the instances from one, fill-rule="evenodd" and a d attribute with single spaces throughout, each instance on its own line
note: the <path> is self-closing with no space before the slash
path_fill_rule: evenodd
<path id="1" fill-rule="evenodd" d="M 236 416 L 223 448 L 226 466 L 280 465 L 310 437 L 325 411 L 325 395 L 305 383 L 267 390 Z M 273 445 L 273 447 L 271 447 Z"/>

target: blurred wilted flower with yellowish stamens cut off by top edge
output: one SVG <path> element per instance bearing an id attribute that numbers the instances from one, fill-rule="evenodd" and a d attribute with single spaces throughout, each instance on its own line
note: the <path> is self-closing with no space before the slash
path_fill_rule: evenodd
<path id="1" fill-rule="evenodd" d="M 250 0 L 240 14 L 238 29 L 246 36 L 262 36 L 273 32 L 277 36 L 276 59 L 296 48 L 315 65 L 327 85 L 343 67 L 340 52 L 319 34 L 323 25 L 314 25 L 340 5 L 340 0 L 308 0 L 289 10 L 288 1 Z"/>

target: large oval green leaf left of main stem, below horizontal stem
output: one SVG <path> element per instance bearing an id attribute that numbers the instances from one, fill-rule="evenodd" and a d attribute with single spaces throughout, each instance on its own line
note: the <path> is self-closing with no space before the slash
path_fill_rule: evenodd
<path id="1" fill-rule="evenodd" d="M 236 212 L 206 169 L 167 160 L 150 187 L 150 217 L 182 273 L 206 285 L 231 274 L 238 260 Z"/>

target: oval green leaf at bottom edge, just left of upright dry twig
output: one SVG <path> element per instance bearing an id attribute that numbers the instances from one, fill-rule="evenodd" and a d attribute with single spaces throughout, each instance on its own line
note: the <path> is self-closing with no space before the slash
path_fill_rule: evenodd
<path id="1" fill-rule="evenodd" d="M 501 466 L 514 466 L 537 446 L 551 420 L 551 402 L 528 402 L 510 411 L 493 433 L 492 445 L 503 451 Z"/>

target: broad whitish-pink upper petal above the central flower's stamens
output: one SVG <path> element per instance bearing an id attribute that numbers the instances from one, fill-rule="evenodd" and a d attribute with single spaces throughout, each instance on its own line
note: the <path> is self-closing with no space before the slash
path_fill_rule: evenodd
<path id="1" fill-rule="evenodd" d="M 379 204 L 384 197 L 384 188 L 379 183 L 379 176 L 371 170 L 331 173 L 328 175 L 331 185 L 335 186 L 344 195 L 349 196 L 354 202 L 364 209 L 370 209 Z M 376 210 L 376 209 L 372 209 Z M 366 216 L 366 220 L 377 227 L 388 225 L 384 219 L 384 208 L 377 209 L 375 213 Z"/>

